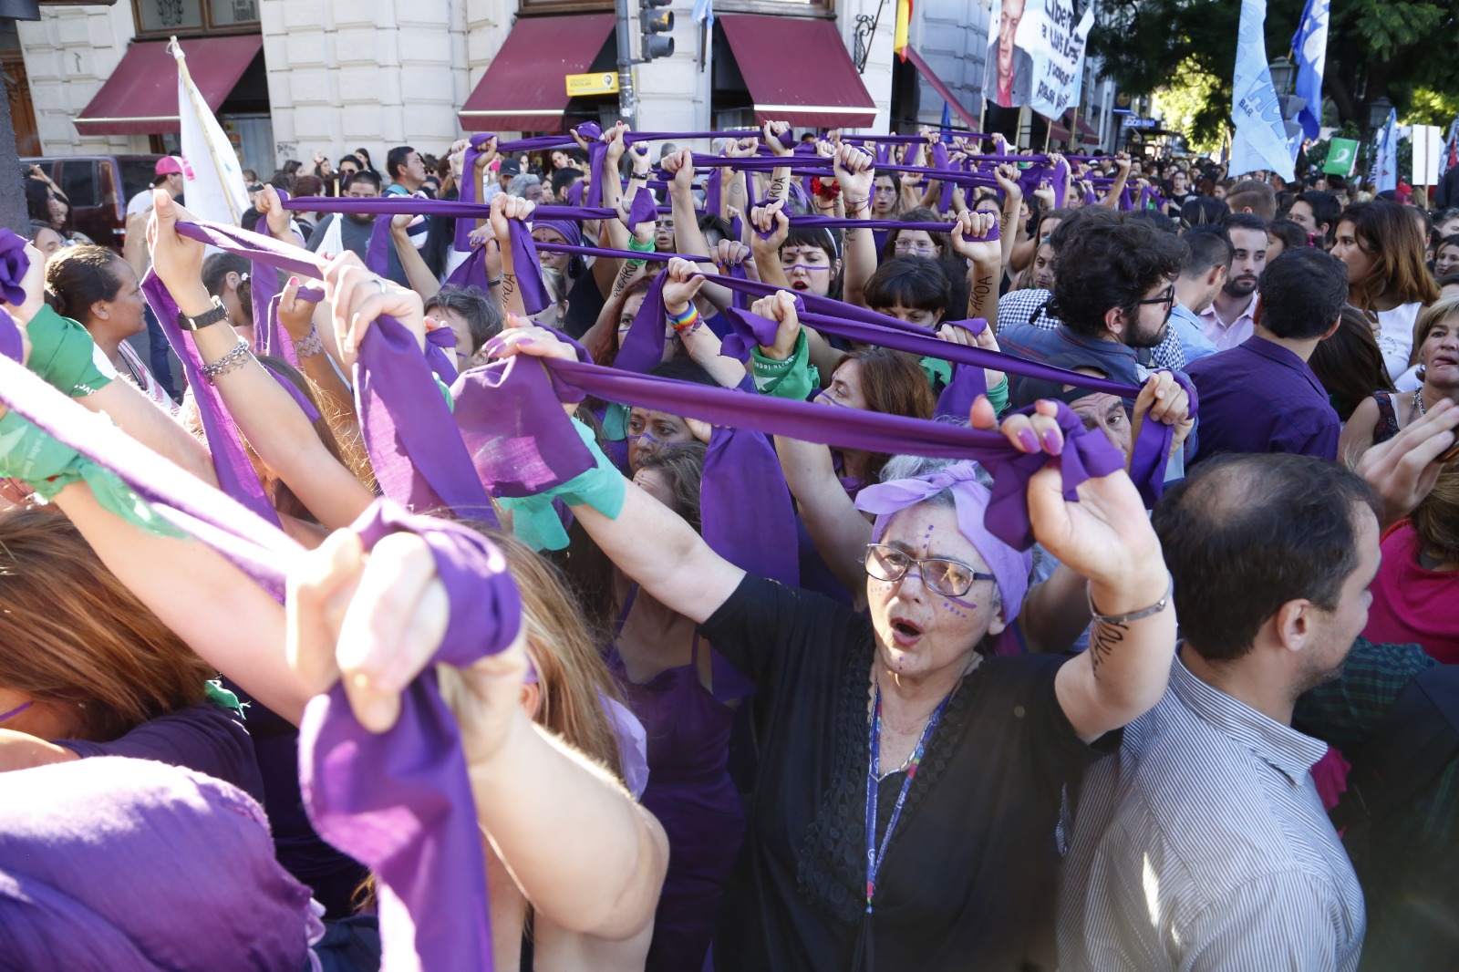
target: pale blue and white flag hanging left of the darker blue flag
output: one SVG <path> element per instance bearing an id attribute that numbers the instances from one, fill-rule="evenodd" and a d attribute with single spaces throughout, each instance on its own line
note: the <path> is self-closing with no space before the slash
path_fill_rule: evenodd
<path id="1" fill-rule="evenodd" d="M 1242 26 L 1236 38 L 1236 77 L 1231 82 L 1231 175 L 1266 169 L 1287 181 L 1296 178 L 1287 147 L 1272 73 L 1266 67 L 1266 0 L 1242 0 Z"/>

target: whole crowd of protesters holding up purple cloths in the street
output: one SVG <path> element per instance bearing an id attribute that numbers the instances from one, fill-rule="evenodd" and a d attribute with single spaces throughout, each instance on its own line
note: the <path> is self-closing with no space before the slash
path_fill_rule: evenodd
<path id="1" fill-rule="evenodd" d="M 1459 966 L 1459 209 L 783 123 L 245 178 L 0 239 L 0 969 Z"/>

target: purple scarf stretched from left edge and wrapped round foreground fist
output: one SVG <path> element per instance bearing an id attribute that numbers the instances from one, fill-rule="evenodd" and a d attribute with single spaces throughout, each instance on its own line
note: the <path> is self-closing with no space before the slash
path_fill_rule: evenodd
<path id="1" fill-rule="evenodd" d="M 0 347 L 19 355 L 19 331 L 9 315 L 0 315 Z M 282 598 L 289 562 L 301 547 L 276 525 L 96 423 L 10 358 L 0 359 L 0 400 L 114 470 L 160 515 Z M 500 552 L 484 537 L 449 521 L 406 517 L 385 504 L 366 511 L 356 528 L 368 547 L 401 528 L 430 544 L 451 598 L 438 661 L 467 666 L 511 644 L 521 604 Z M 455 721 L 441 702 L 430 667 L 407 689 L 400 721 L 382 736 L 355 721 L 340 686 L 305 711 L 299 757 L 309 816 L 321 835 L 381 879 L 387 968 L 492 968 L 481 844 L 460 752 Z"/>

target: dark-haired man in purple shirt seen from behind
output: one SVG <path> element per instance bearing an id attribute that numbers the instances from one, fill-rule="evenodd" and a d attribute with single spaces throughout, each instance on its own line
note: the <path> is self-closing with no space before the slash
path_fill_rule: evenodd
<path id="1" fill-rule="evenodd" d="M 1307 359 L 1338 330 L 1348 299 L 1342 261 L 1313 247 L 1272 260 L 1245 343 L 1188 366 L 1201 403 L 1196 461 L 1217 452 L 1338 457 L 1338 413 Z"/>

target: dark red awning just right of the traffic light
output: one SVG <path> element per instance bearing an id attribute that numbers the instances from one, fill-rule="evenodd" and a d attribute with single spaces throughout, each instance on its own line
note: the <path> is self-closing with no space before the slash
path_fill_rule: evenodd
<path id="1" fill-rule="evenodd" d="M 832 20 L 727 13 L 718 18 L 754 101 L 754 118 L 804 128 L 865 128 L 877 104 Z"/>

